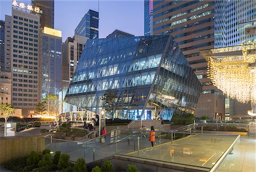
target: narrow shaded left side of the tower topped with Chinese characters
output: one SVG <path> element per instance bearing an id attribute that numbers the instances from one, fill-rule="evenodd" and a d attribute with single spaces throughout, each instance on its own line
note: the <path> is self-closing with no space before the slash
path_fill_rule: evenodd
<path id="1" fill-rule="evenodd" d="M 11 16 L 5 15 L 5 71 L 11 72 Z"/>

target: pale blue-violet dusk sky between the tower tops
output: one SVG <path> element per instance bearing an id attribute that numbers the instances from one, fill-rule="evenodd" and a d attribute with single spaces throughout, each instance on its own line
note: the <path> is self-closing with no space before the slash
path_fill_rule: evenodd
<path id="1" fill-rule="evenodd" d="M 20 0 L 30 4 L 29 0 Z M 88 10 L 98 11 L 97 0 L 55 0 L 55 29 L 62 31 L 63 42 L 72 37 L 75 28 Z M 5 14 L 11 15 L 11 1 L 0 0 L 0 20 Z M 115 29 L 131 33 L 135 36 L 144 35 L 144 1 L 143 0 L 100 0 L 99 36 L 105 38 Z"/>

